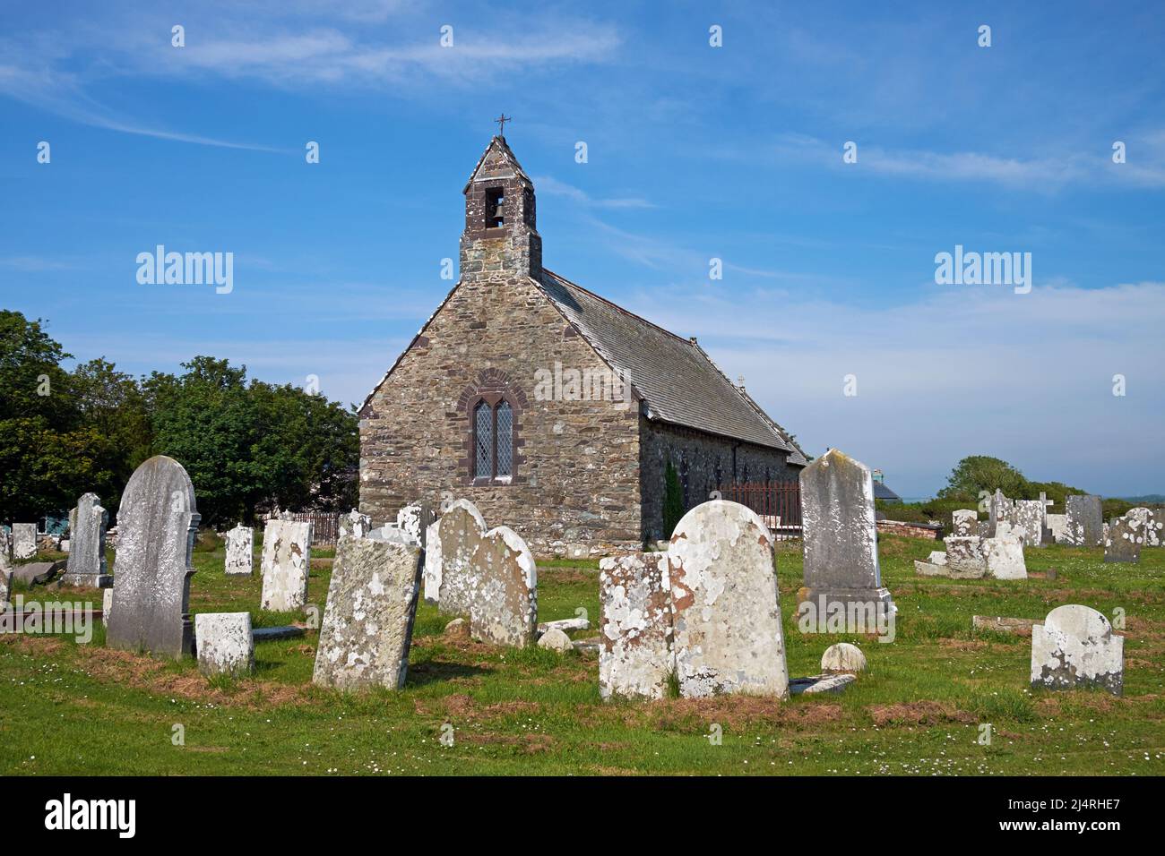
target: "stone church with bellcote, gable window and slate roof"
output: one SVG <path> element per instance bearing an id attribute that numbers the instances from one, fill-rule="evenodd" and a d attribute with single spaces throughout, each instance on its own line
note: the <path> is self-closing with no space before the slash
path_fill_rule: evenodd
<path id="1" fill-rule="evenodd" d="M 796 480 L 796 441 L 685 339 L 542 266 L 534 183 L 494 136 L 465 185 L 461 278 L 360 410 L 360 509 L 467 497 L 537 554 L 637 547 L 732 481 Z M 673 482 L 675 483 L 675 482 Z"/>

